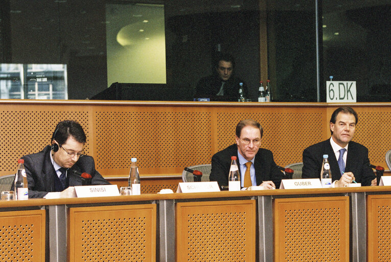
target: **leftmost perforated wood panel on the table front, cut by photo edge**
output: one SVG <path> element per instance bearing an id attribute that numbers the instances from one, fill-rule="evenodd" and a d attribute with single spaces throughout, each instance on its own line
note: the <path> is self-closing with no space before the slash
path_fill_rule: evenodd
<path id="1" fill-rule="evenodd" d="M 45 210 L 0 212 L 0 261 L 45 261 Z"/>

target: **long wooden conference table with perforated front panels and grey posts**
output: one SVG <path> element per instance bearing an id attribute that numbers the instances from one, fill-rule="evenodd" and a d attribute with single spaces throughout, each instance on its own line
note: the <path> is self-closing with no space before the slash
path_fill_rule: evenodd
<path id="1" fill-rule="evenodd" d="M 390 190 L 0 201 L 0 261 L 390 261 Z"/>

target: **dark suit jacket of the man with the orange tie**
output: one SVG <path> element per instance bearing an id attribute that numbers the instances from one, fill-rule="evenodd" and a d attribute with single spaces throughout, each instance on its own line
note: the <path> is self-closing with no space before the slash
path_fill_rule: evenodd
<path id="1" fill-rule="evenodd" d="M 219 186 L 228 185 L 228 174 L 229 168 L 231 167 L 232 156 L 237 157 L 240 173 L 238 146 L 233 144 L 213 155 L 210 181 L 217 181 Z M 284 178 L 284 173 L 282 173 L 274 163 L 273 153 L 270 150 L 259 148 L 257 155 L 255 156 L 254 167 L 257 185 L 262 184 L 263 181 L 271 180 L 276 188 L 280 187 L 281 179 Z M 240 174 L 240 176 L 242 176 L 242 174 Z"/>

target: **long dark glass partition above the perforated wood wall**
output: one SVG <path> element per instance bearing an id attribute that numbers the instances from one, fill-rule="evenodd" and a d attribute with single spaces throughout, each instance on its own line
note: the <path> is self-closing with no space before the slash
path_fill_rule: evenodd
<path id="1" fill-rule="evenodd" d="M 22 83 L 21 71 L 10 70 L 1 98 L 192 101 L 198 81 L 215 74 L 215 57 L 227 52 L 252 101 L 267 79 L 274 101 L 317 101 L 318 85 L 326 101 L 330 75 L 356 81 L 357 101 L 390 101 L 390 6 L 391 0 L 4 0 L 0 63 L 22 64 L 26 72 L 27 64 L 66 67 L 47 75 L 52 91 L 42 82 Z M 159 49 L 151 45 L 157 31 L 164 32 Z M 134 39 L 141 53 L 134 53 Z M 42 71 L 34 72 L 39 79 Z M 126 95 L 103 95 L 118 86 Z"/>

